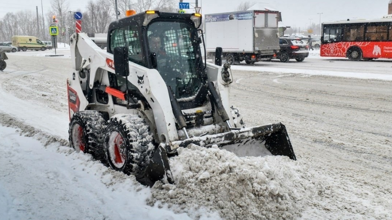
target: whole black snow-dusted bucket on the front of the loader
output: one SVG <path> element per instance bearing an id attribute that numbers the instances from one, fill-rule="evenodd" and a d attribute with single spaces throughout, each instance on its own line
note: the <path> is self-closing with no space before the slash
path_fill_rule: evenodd
<path id="1" fill-rule="evenodd" d="M 174 179 L 166 152 L 172 151 L 172 146 L 174 148 L 185 148 L 189 144 L 203 147 L 211 147 L 216 144 L 219 148 L 233 152 L 238 157 L 282 155 L 296 160 L 286 127 L 281 123 L 276 123 L 214 135 L 192 137 L 183 141 L 173 141 L 166 145 L 161 144 L 155 151 L 147 169 L 141 175 L 137 175 L 136 179 L 147 186 L 153 186 L 156 181 L 165 178 L 173 184 Z"/>

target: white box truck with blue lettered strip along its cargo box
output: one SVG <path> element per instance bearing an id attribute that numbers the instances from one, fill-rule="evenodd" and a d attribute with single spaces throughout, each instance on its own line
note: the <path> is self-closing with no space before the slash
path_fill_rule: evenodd
<path id="1" fill-rule="evenodd" d="M 207 58 L 221 47 L 230 65 L 271 60 L 279 51 L 278 11 L 236 11 L 205 15 Z"/>

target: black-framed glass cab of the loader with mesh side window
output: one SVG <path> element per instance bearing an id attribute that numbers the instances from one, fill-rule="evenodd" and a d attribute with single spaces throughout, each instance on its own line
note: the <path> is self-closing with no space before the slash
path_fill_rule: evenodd
<path id="1" fill-rule="evenodd" d="M 207 94 L 206 74 L 197 28 L 201 16 L 147 11 L 109 25 L 107 51 L 128 47 L 129 61 L 156 69 L 171 87 L 181 108 L 200 105 Z M 202 93 L 202 94 L 200 94 Z"/>

